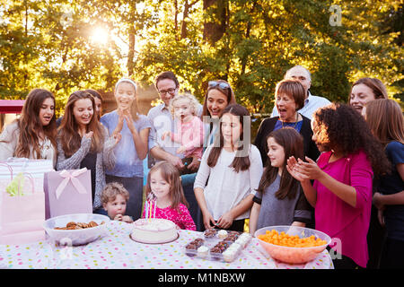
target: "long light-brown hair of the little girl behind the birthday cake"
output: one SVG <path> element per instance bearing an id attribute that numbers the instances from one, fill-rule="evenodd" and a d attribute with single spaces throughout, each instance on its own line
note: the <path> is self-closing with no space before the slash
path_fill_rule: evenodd
<path id="1" fill-rule="evenodd" d="M 171 208 L 176 209 L 178 212 L 180 212 L 180 209 L 178 208 L 179 204 L 184 204 L 189 207 L 181 186 L 180 172 L 169 161 L 160 161 L 156 163 L 152 169 L 149 170 L 145 188 L 146 198 L 152 192 L 152 187 L 150 186 L 151 175 L 152 173 L 154 173 L 154 171 L 157 170 L 160 170 L 160 172 L 162 173 L 162 178 L 170 185 L 170 196 L 172 201 Z"/>

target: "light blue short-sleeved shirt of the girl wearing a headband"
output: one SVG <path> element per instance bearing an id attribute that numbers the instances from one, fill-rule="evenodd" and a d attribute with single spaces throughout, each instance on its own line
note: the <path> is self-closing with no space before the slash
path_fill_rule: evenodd
<path id="1" fill-rule="evenodd" d="M 152 126 L 147 117 L 144 115 L 137 116 L 138 119 L 136 121 L 133 120 L 137 133 Z M 101 124 L 107 127 L 110 135 L 118 125 L 118 120 L 119 115 L 117 110 L 113 110 L 110 113 L 103 115 L 100 119 Z M 143 178 L 143 160 L 140 160 L 137 156 L 133 135 L 127 127 L 126 120 L 124 120 L 120 134 L 122 135 L 122 138 L 114 148 L 116 156 L 115 167 L 113 170 L 105 170 L 105 174 L 121 178 Z"/>

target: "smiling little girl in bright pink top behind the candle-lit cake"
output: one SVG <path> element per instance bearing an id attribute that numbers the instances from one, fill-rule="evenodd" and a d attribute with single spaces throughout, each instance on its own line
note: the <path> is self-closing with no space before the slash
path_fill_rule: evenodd
<path id="1" fill-rule="evenodd" d="M 179 171 L 170 162 L 160 161 L 149 171 L 146 198 L 144 218 L 167 219 L 181 230 L 197 230 L 187 208 Z"/>

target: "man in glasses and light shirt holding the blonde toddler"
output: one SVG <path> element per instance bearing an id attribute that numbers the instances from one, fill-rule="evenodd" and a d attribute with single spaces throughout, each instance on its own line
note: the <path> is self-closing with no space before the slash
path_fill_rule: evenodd
<path id="1" fill-rule="evenodd" d="M 181 159 L 183 154 L 177 153 L 179 143 L 173 143 L 171 140 L 162 141 L 162 133 L 166 131 L 176 132 L 176 125 L 170 111 L 170 100 L 178 95 L 180 83 L 177 77 L 170 71 L 162 72 L 155 78 L 155 88 L 157 89 L 162 103 L 150 109 L 147 117 L 152 123 L 149 134 L 149 168 L 154 164 L 153 161 L 170 161 L 179 170 L 185 166 Z M 198 117 L 202 115 L 202 105 L 198 105 Z M 198 171 L 200 161 L 193 161 L 188 169 Z M 181 176 L 182 188 L 185 197 L 189 203 L 189 213 L 197 224 L 198 229 L 198 202 L 194 194 L 194 181 L 196 174 L 187 174 Z"/>

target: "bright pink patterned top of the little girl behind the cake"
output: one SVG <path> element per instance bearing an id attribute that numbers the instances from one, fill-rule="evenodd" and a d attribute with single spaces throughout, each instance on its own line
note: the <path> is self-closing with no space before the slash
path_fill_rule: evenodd
<path id="1" fill-rule="evenodd" d="M 151 205 L 152 205 L 152 217 L 154 217 L 154 204 Z M 167 219 L 171 222 L 174 222 L 180 227 L 181 230 L 196 231 L 197 226 L 195 225 L 195 222 L 192 220 L 192 217 L 190 216 L 187 206 L 185 206 L 184 204 L 179 204 L 178 210 L 180 212 L 177 211 L 177 209 L 172 209 L 171 206 L 165 208 L 159 208 L 158 206 L 156 206 L 155 218 Z M 145 218 L 145 208 L 143 211 L 143 218 Z"/>

